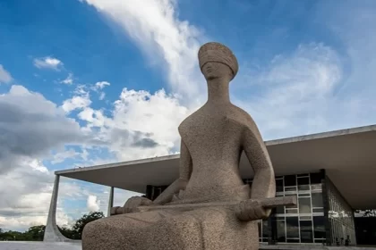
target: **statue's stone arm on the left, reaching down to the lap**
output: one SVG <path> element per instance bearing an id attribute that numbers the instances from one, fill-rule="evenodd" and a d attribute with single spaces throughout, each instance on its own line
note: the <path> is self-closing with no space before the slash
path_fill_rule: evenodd
<path id="1" fill-rule="evenodd" d="M 192 173 L 192 157 L 189 153 L 188 147 L 184 144 L 183 139 L 180 145 L 180 166 L 179 179 L 176 179 L 173 184 L 166 188 L 154 201 L 154 204 L 167 204 L 173 196 L 179 193 L 180 190 L 185 189 L 188 180 Z"/>

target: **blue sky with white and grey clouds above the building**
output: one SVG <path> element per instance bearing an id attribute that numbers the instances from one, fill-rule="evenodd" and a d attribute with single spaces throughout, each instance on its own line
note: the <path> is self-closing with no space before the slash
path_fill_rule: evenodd
<path id="1" fill-rule="evenodd" d="M 235 53 L 231 100 L 265 140 L 375 124 L 374 12 L 372 0 L 0 1 L 0 228 L 46 223 L 56 170 L 177 153 L 179 123 L 207 97 L 209 41 Z M 133 195 L 116 190 L 115 205 Z M 61 179 L 57 222 L 107 201 L 107 187 Z"/>

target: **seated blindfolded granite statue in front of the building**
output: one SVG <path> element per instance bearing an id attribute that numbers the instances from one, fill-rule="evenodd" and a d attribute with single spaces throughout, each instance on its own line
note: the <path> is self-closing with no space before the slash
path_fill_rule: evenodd
<path id="1" fill-rule="evenodd" d="M 199 63 L 208 101 L 178 128 L 179 178 L 154 201 L 132 197 L 115 211 L 121 214 L 90 222 L 83 230 L 83 250 L 259 249 L 257 220 L 267 218 L 270 209 L 257 202 L 244 211 L 217 206 L 135 212 L 140 205 L 241 202 L 276 195 L 259 129 L 247 112 L 230 102 L 229 83 L 238 71 L 235 55 L 226 46 L 208 43 L 199 50 Z M 254 171 L 252 188 L 240 176 L 243 152 Z"/>

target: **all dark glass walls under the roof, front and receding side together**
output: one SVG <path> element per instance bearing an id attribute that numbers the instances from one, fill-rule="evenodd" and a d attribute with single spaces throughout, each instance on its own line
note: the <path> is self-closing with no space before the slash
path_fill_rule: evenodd
<path id="1" fill-rule="evenodd" d="M 252 179 L 244 183 L 252 188 Z M 148 186 L 146 196 L 154 200 L 167 187 Z M 261 242 L 336 245 L 348 236 L 355 244 L 354 213 L 324 171 L 276 177 L 276 190 L 277 196 L 296 196 L 298 203 L 259 221 Z"/>

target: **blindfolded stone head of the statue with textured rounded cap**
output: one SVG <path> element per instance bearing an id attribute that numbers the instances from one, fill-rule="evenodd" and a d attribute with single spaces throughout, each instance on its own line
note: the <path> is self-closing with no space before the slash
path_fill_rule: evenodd
<path id="1" fill-rule="evenodd" d="M 211 42 L 201 46 L 199 63 L 205 79 L 216 79 L 229 75 L 230 80 L 235 78 L 238 63 L 233 52 L 226 46 Z"/>

